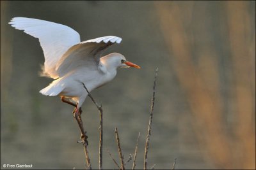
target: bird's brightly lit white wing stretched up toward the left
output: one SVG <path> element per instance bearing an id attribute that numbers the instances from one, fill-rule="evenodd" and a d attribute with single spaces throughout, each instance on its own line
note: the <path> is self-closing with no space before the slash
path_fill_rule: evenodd
<path id="1" fill-rule="evenodd" d="M 51 78 L 59 77 L 55 68 L 61 56 L 68 48 L 81 42 L 79 34 L 66 25 L 24 17 L 12 18 L 9 24 L 39 39 L 45 57 L 44 71 Z"/>

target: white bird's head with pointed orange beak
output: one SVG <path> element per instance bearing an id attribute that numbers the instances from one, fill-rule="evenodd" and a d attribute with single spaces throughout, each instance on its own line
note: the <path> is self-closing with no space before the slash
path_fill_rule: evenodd
<path id="1" fill-rule="evenodd" d="M 106 57 L 102 57 L 104 64 L 112 67 L 134 67 L 140 69 L 140 66 L 129 62 L 125 59 L 124 55 L 120 53 L 110 53 Z"/>

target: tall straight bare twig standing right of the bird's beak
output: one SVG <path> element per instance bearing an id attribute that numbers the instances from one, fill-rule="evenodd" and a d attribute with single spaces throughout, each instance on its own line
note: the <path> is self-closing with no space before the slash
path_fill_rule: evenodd
<path id="1" fill-rule="evenodd" d="M 155 74 L 155 78 L 154 78 L 153 97 L 152 97 L 152 101 L 151 101 L 150 118 L 149 118 L 149 123 L 148 123 L 148 134 L 147 134 L 147 140 L 146 140 L 146 145 L 145 145 L 144 169 L 147 169 L 147 162 L 148 162 L 148 146 L 149 146 L 149 139 L 151 136 L 151 125 L 152 125 L 154 103 L 155 103 L 157 71 L 158 71 L 158 68 L 156 69 L 156 74 Z"/>

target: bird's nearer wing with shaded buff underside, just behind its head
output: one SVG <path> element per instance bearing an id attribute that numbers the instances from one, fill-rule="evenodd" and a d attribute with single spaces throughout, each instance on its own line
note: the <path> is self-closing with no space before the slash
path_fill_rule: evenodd
<path id="1" fill-rule="evenodd" d="M 64 76 L 77 67 L 87 67 L 90 70 L 98 69 L 100 57 L 104 50 L 121 41 L 122 38 L 116 36 L 104 36 L 74 45 L 58 61 L 56 72 L 59 76 Z"/>

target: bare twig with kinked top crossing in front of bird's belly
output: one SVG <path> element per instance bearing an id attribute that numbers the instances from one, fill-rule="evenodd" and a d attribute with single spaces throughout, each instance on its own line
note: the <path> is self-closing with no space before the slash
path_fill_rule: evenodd
<path id="1" fill-rule="evenodd" d="M 88 96 L 92 99 L 93 103 L 95 104 L 95 106 L 98 108 L 98 110 L 100 111 L 100 142 L 99 142 L 99 169 L 102 169 L 102 146 L 103 146 L 103 110 L 102 110 L 102 105 L 97 104 L 95 102 L 95 100 L 93 99 L 92 95 L 90 94 L 90 92 L 88 91 L 88 89 L 86 88 L 86 86 L 83 83 L 83 87 L 86 90 L 86 92 L 88 93 Z"/>

